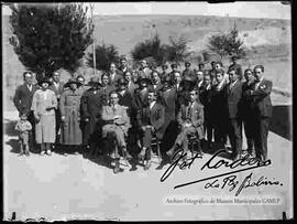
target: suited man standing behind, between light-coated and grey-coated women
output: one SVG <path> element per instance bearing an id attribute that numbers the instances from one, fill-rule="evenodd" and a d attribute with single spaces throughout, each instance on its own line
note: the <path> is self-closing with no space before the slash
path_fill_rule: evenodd
<path id="1" fill-rule="evenodd" d="M 59 98 L 64 90 L 65 84 L 59 81 L 61 74 L 58 71 L 54 72 L 52 77 L 53 77 L 53 82 L 48 88 L 55 93 L 57 97 L 57 103 L 59 105 Z M 62 124 L 59 107 L 56 109 L 55 116 L 56 116 L 56 142 L 59 142 L 59 129 L 61 129 L 61 124 Z"/>

